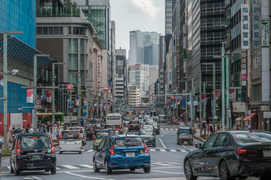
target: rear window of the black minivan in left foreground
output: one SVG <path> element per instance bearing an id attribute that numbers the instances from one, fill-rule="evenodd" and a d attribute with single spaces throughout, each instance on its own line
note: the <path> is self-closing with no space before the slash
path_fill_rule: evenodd
<path id="1" fill-rule="evenodd" d="M 34 136 L 34 137 L 20 137 L 18 148 L 19 149 L 40 149 L 51 148 L 52 141 L 50 136 Z"/>

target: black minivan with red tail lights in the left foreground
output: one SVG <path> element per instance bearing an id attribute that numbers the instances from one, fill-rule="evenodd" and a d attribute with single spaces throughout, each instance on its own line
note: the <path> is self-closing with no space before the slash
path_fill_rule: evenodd
<path id="1" fill-rule="evenodd" d="M 18 133 L 10 157 L 10 173 L 51 171 L 56 174 L 56 154 L 49 133 Z"/>

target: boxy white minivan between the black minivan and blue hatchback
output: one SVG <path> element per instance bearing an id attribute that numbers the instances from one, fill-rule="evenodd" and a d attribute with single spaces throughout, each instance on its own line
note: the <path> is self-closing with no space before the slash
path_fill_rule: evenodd
<path id="1" fill-rule="evenodd" d="M 59 139 L 59 154 L 62 152 L 79 152 L 82 154 L 82 137 L 79 130 L 61 131 Z"/>

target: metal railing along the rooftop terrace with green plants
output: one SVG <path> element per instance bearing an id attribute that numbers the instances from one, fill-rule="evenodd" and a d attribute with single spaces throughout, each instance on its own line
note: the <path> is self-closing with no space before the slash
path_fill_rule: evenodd
<path id="1" fill-rule="evenodd" d="M 79 17 L 80 8 L 36 8 L 36 17 Z"/>

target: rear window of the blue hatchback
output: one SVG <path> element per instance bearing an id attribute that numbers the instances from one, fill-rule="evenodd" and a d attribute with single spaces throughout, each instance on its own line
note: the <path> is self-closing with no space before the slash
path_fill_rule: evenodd
<path id="1" fill-rule="evenodd" d="M 113 141 L 114 147 L 127 147 L 129 145 L 133 146 L 144 146 L 144 141 L 141 137 L 121 137 L 121 138 L 115 138 Z"/>

